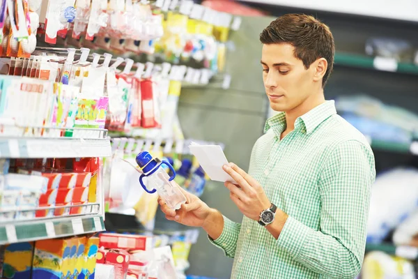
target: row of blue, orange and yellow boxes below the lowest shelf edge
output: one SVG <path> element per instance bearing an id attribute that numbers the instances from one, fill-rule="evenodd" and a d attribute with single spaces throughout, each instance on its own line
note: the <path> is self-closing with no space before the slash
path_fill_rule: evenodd
<path id="1" fill-rule="evenodd" d="M 45 239 L 8 244 L 1 278 L 95 278 L 97 237 Z"/>

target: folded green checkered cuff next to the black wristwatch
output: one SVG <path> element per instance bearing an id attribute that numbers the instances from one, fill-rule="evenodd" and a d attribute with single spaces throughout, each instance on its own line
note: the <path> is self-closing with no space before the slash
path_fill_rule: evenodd
<path id="1" fill-rule="evenodd" d="M 311 228 L 288 216 L 277 239 L 277 246 L 297 258 L 304 247 Z"/>

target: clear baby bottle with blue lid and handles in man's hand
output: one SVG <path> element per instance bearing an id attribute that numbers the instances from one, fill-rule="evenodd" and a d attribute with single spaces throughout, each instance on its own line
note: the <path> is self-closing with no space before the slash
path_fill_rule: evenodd
<path id="1" fill-rule="evenodd" d="M 138 154 L 137 164 L 141 167 L 144 174 L 139 177 L 139 182 L 141 183 L 142 188 L 146 190 L 147 193 L 155 193 L 166 202 L 169 208 L 177 210 L 180 209 L 182 204 L 186 203 L 186 197 L 181 192 L 180 188 L 172 183 L 176 172 L 173 167 L 167 161 L 160 161 L 158 158 L 153 158 L 147 151 L 141 152 Z M 167 172 L 161 167 L 161 165 L 167 165 L 173 172 L 173 176 L 169 176 Z M 148 190 L 145 186 L 144 178 L 146 178 L 146 184 L 153 190 Z"/>

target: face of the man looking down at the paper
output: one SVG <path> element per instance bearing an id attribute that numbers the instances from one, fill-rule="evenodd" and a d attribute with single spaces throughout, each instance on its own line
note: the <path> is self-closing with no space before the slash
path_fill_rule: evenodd
<path id="1" fill-rule="evenodd" d="M 315 68 L 304 68 L 288 43 L 263 45 L 261 65 L 265 93 L 270 107 L 277 112 L 290 112 L 299 107 L 314 89 Z"/>

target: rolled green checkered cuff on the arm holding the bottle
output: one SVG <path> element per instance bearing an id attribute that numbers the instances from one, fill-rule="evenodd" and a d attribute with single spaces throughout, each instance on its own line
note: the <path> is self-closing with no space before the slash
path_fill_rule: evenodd
<path id="1" fill-rule="evenodd" d="M 227 257 L 233 257 L 239 230 L 236 227 L 237 223 L 229 220 L 229 218 L 226 218 L 225 216 L 222 217 L 224 218 L 224 229 L 222 229 L 222 234 L 217 239 L 212 239 L 210 236 L 208 236 L 208 239 L 217 248 L 224 250 Z"/>

